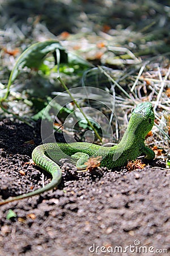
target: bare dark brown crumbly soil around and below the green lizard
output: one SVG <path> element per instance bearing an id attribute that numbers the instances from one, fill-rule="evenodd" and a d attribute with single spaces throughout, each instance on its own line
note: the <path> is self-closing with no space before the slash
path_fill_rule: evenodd
<path id="1" fill-rule="evenodd" d="M 46 172 L 27 164 L 39 134 L 39 125 L 32 129 L 7 119 L 0 122 L 1 200 L 41 187 L 42 173 L 45 184 L 49 182 Z M 159 162 L 150 164 L 164 167 Z M 169 170 L 98 168 L 77 176 L 70 168 L 64 164 L 58 189 L 1 206 L 1 256 L 122 255 L 121 248 L 110 252 L 130 245 L 134 247 L 123 255 L 168 255 L 162 251 L 170 244 Z M 7 220 L 9 209 L 16 217 Z M 145 246 L 142 253 L 140 246 Z M 159 253 L 146 253 L 156 249 Z"/>

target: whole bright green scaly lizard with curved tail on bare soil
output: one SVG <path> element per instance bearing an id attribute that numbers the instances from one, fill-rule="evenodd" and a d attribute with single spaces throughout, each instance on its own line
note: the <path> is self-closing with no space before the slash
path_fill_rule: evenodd
<path id="1" fill-rule="evenodd" d="M 147 159 L 154 159 L 155 153 L 150 148 L 146 147 L 145 137 L 154 125 L 155 115 L 150 102 L 138 104 L 131 114 L 129 125 L 122 137 L 120 143 L 113 147 L 103 147 L 96 144 L 86 142 L 75 143 L 46 143 L 37 146 L 32 152 L 32 159 L 45 171 L 52 175 L 52 181 L 44 188 L 26 193 L 24 195 L 11 197 L 0 202 L 0 205 L 11 201 L 24 199 L 29 196 L 39 195 L 42 192 L 48 191 L 61 182 L 62 171 L 58 164 L 59 159 L 67 156 L 79 158 L 86 156 L 101 156 L 100 166 L 105 166 L 108 169 L 113 167 L 125 166 L 128 160 L 135 160 L 139 155 L 144 153 Z M 56 161 L 56 162 L 54 162 Z M 87 158 L 84 162 L 87 161 Z M 80 161 L 82 163 L 82 159 Z"/>

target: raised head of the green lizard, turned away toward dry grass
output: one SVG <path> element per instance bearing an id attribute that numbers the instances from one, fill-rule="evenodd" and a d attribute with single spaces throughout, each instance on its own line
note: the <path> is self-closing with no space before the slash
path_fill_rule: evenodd
<path id="1" fill-rule="evenodd" d="M 155 114 L 150 102 L 138 104 L 133 110 L 129 121 L 129 129 L 136 135 L 145 138 L 154 125 Z"/>

